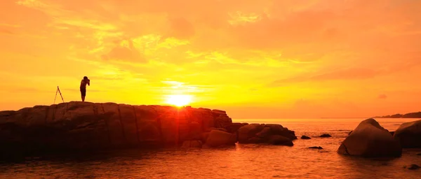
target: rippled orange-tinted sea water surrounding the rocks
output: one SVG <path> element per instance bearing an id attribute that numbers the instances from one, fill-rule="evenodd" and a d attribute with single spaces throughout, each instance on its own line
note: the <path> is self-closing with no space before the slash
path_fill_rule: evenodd
<path id="1" fill-rule="evenodd" d="M 295 131 L 294 146 L 236 144 L 218 149 L 124 150 L 95 155 L 0 163 L 0 178 L 421 178 L 421 149 L 400 158 L 366 159 L 339 155 L 349 131 L 364 119 L 234 120 L 282 124 Z M 417 119 L 377 119 L 389 131 Z M 330 134 L 332 138 L 318 138 Z M 302 140 L 300 136 L 312 137 Z M 321 146 L 323 150 L 309 149 Z"/>

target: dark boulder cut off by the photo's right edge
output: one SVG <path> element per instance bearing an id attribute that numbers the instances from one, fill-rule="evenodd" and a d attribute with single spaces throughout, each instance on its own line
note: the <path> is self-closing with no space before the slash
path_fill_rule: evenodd
<path id="1" fill-rule="evenodd" d="M 421 148 L 421 120 L 401 124 L 394 132 L 394 138 L 402 148 Z"/>

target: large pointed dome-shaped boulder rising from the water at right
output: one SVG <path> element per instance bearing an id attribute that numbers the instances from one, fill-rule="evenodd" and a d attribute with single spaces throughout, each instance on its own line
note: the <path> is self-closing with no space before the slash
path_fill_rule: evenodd
<path id="1" fill-rule="evenodd" d="M 363 120 L 345 138 L 338 153 L 361 157 L 400 157 L 401 145 L 374 119 Z"/>

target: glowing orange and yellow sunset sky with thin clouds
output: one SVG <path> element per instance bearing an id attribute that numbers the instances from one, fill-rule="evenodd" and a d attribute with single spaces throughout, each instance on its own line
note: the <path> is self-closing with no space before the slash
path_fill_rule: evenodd
<path id="1" fill-rule="evenodd" d="M 418 0 L 2 0 L 0 110 L 51 105 L 58 86 L 80 101 L 88 76 L 86 101 L 185 95 L 233 118 L 415 112 L 420 9 Z"/>

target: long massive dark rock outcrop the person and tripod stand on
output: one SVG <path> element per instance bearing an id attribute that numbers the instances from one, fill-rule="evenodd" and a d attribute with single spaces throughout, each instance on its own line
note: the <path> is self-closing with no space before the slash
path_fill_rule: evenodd
<path id="1" fill-rule="evenodd" d="M 218 147 L 236 143 L 245 125 L 233 123 L 223 110 L 72 101 L 1 111 L 0 152 L 5 157 L 11 152 L 200 148 L 202 143 Z M 279 130 L 293 135 L 286 128 Z"/>

